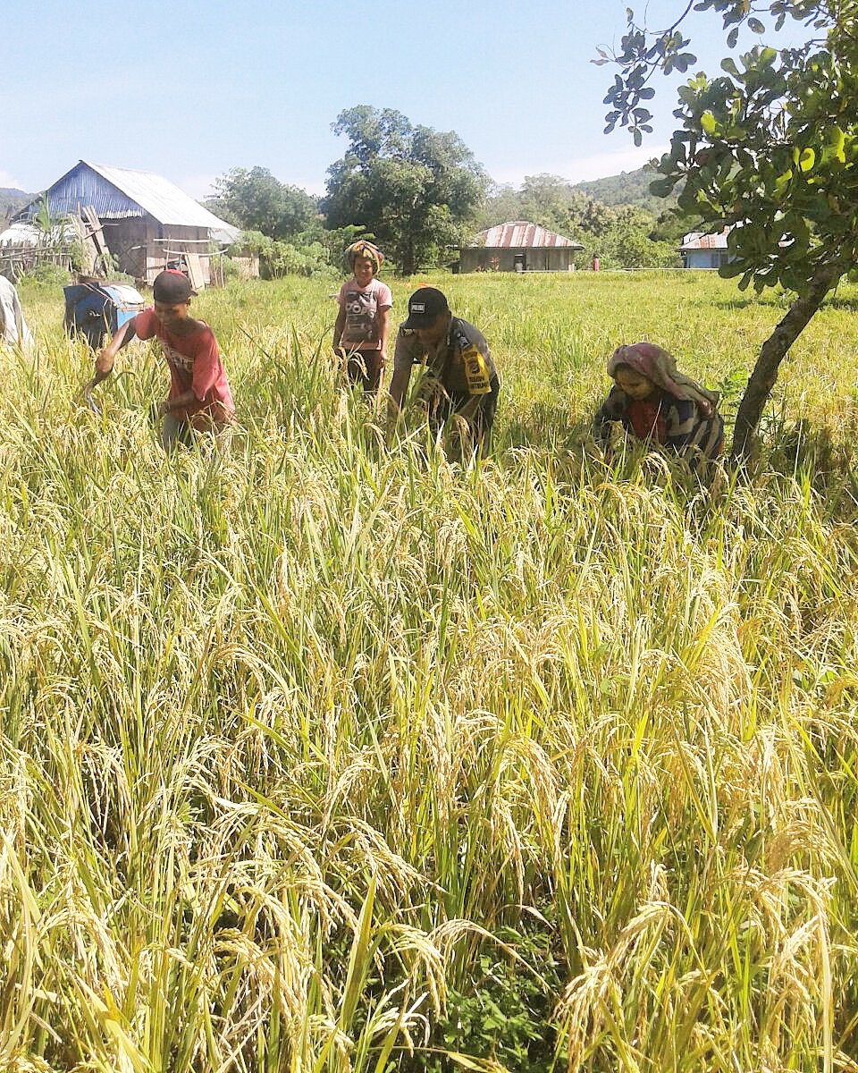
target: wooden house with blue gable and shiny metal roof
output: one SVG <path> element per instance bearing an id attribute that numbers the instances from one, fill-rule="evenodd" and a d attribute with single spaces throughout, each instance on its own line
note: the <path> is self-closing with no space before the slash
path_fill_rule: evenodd
<path id="1" fill-rule="evenodd" d="M 220 253 L 240 234 L 154 172 L 79 161 L 17 215 L 29 220 L 47 201 L 53 218 L 79 217 L 120 271 L 151 283 L 165 267 L 182 268 L 195 286 L 216 281 Z"/>

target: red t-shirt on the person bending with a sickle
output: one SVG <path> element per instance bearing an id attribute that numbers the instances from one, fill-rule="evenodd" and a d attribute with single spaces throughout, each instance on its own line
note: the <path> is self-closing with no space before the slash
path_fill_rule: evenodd
<path id="1" fill-rule="evenodd" d="M 235 403 L 226 381 L 226 373 L 218 353 L 218 343 L 208 324 L 199 323 L 199 329 L 190 335 L 177 336 L 167 332 L 153 309 L 144 309 L 134 318 L 134 333 L 138 339 L 151 339 L 161 343 L 164 361 L 169 366 L 169 394 L 175 399 L 193 391 L 196 402 L 171 411 L 176 417 L 191 417 L 203 410 L 214 421 L 231 421 Z"/>

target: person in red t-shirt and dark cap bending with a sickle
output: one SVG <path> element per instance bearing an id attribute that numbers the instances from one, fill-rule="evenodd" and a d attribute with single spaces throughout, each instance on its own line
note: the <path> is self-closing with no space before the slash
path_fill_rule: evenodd
<path id="1" fill-rule="evenodd" d="M 95 358 L 95 374 L 85 392 L 109 377 L 122 347 L 136 336 L 157 338 L 169 368 L 169 393 L 160 403 L 161 444 L 166 452 L 190 444 L 194 432 L 219 432 L 233 424 L 235 406 L 214 335 L 205 321 L 191 317 L 188 277 L 175 269 L 158 275 L 152 284 L 154 306 L 119 328 Z"/>

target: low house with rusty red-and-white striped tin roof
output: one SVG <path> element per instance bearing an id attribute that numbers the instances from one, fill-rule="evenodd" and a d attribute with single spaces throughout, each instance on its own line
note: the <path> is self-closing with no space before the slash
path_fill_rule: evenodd
<path id="1" fill-rule="evenodd" d="M 526 220 L 499 223 L 459 252 L 460 271 L 569 271 L 580 242 Z"/>

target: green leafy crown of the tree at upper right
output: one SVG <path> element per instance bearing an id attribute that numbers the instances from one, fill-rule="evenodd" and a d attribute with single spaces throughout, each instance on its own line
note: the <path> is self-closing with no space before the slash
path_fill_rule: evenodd
<path id="1" fill-rule="evenodd" d="M 775 27 L 802 19 L 811 36 L 799 48 L 759 45 L 728 56 L 720 75 L 698 73 L 683 85 L 674 113 L 681 126 L 650 189 L 666 196 L 681 185 L 682 211 L 706 230 L 730 229 L 734 261 L 722 274 L 740 277 L 740 286 L 804 294 L 822 266 L 842 273 L 858 253 L 855 5 L 700 0 L 696 8 L 722 15 L 728 46 L 742 26 L 766 32 L 766 11 Z M 623 74 L 608 94 L 619 112 L 613 121 L 633 134 L 635 94 L 684 47 L 671 33 L 656 36 L 667 49 L 662 56 L 632 23 L 616 57 Z"/>

